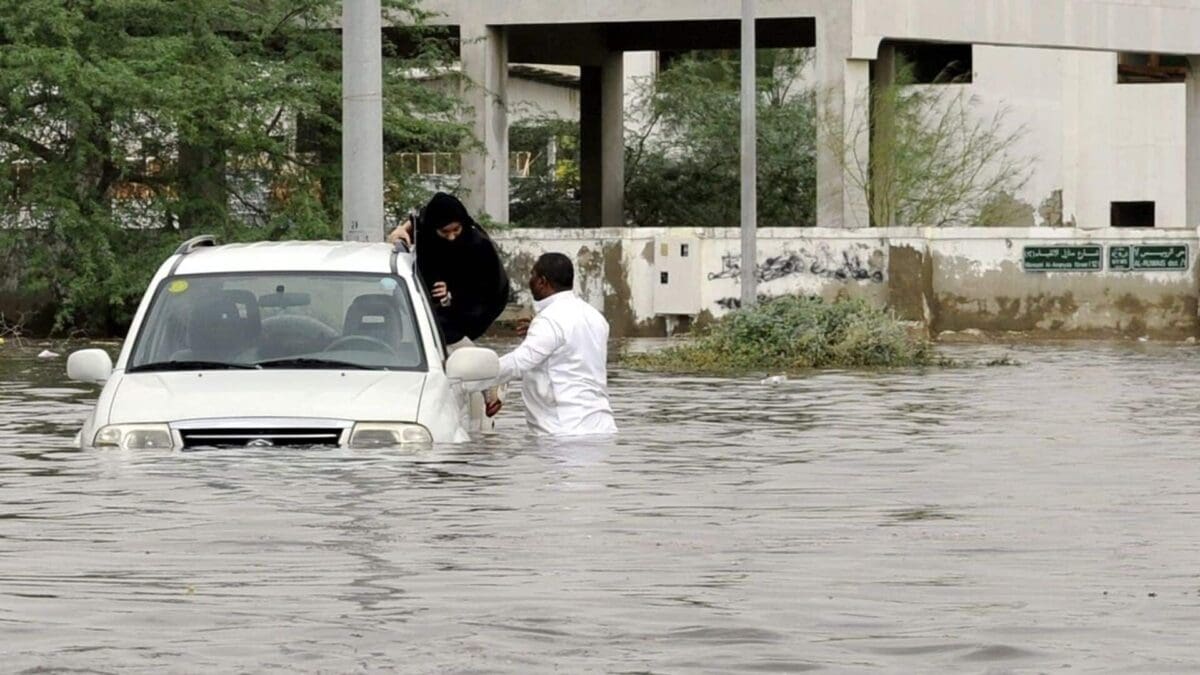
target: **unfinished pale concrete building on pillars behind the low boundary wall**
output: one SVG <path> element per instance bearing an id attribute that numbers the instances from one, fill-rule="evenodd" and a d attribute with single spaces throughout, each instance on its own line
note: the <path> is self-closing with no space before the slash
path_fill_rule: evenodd
<path id="1" fill-rule="evenodd" d="M 436 23 L 458 29 L 463 67 L 482 84 L 472 96 L 475 130 L 486 151 L 464 161 L 464 187 L 473 205 L 505 220 L 508 163 L 494 157 L 506 156 L 508 64 L 576 66 L 584 221 L 619 226 L 622 55 L 736 48 L 740 2 L 428 0 L 426 7 L 439 14 Z M 815 48 L 821 107 L 841 110 L 846 120 L 865 107 L 872 71 L 886 77 L 890 46 L 967 46 L 980 78 L 971 86 L 982 106 L 1008 104 L 1015 110 L 1014 121 L 1031 113 L 1022 124 L 1031 130 L 1027 143 L 1040 166 L 1018 197 L 1034 214 L 1062 213 L 1064 222 L 1094 228 L 1109 226 L 1115 208 L 1132 209 L 1145 220 L 1147 203 L 1153 202 L 1158 227 L 1200 225 L 1196 77 L 1186 74 L 1174 84 L 1117 82 L 1118 53 L 1200 54 L 1200 2 L 763 0 L 758 24 L 761 47 Z M 817 225 L 866 225 L 866 198 L 840 167 L 828 151 L 818 159 Z M 1034 220 L 1055 219 L 1034 215 Z"/>

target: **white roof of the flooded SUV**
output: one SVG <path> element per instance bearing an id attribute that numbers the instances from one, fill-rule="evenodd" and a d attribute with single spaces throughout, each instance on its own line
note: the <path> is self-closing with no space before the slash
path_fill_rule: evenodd
<path id="1" fill-rule="evenodd" d="M 396 271 L 413 274 L 413 257 L 400 253 Z M 239 271 L 359 271 L 390 274 L 392 247 L 358 241 L 259 241 L 203 246 L 167 261 L 173 274 Z"/>

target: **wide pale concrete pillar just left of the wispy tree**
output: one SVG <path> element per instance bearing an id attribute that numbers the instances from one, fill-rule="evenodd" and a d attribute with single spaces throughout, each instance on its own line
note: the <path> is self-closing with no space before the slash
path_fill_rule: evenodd
<path id="1" fill-rule="evenodd" d="M 870 159 L 871 61 L 850 59 L 848 26 L 817 24 L 817 225 L 870 227 L 866 166 Z M 838 153 L 845 150 L 846 156 Z"/>

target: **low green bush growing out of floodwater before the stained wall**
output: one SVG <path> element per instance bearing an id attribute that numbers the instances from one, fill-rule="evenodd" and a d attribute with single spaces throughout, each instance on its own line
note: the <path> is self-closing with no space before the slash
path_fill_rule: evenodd
<path id="1" fill-rule="evenodd" d="M 928 341 L 863 300 L 781 297 L 720 319 L 696 340 L 630 354 L 625 365 L 666 372 L 778 372 L 900 368 L 934 362 Z"/>

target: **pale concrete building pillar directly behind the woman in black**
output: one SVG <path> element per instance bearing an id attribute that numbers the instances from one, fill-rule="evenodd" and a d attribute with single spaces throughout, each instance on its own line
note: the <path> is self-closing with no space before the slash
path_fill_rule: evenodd
<path id="1" fill-rule="evenodd" d="M 462 157 L 463 203 L 475 214 L 509 220 L 509 43 L 503 28 L 462 26 L 463 98 L 479 143 Z"/>

